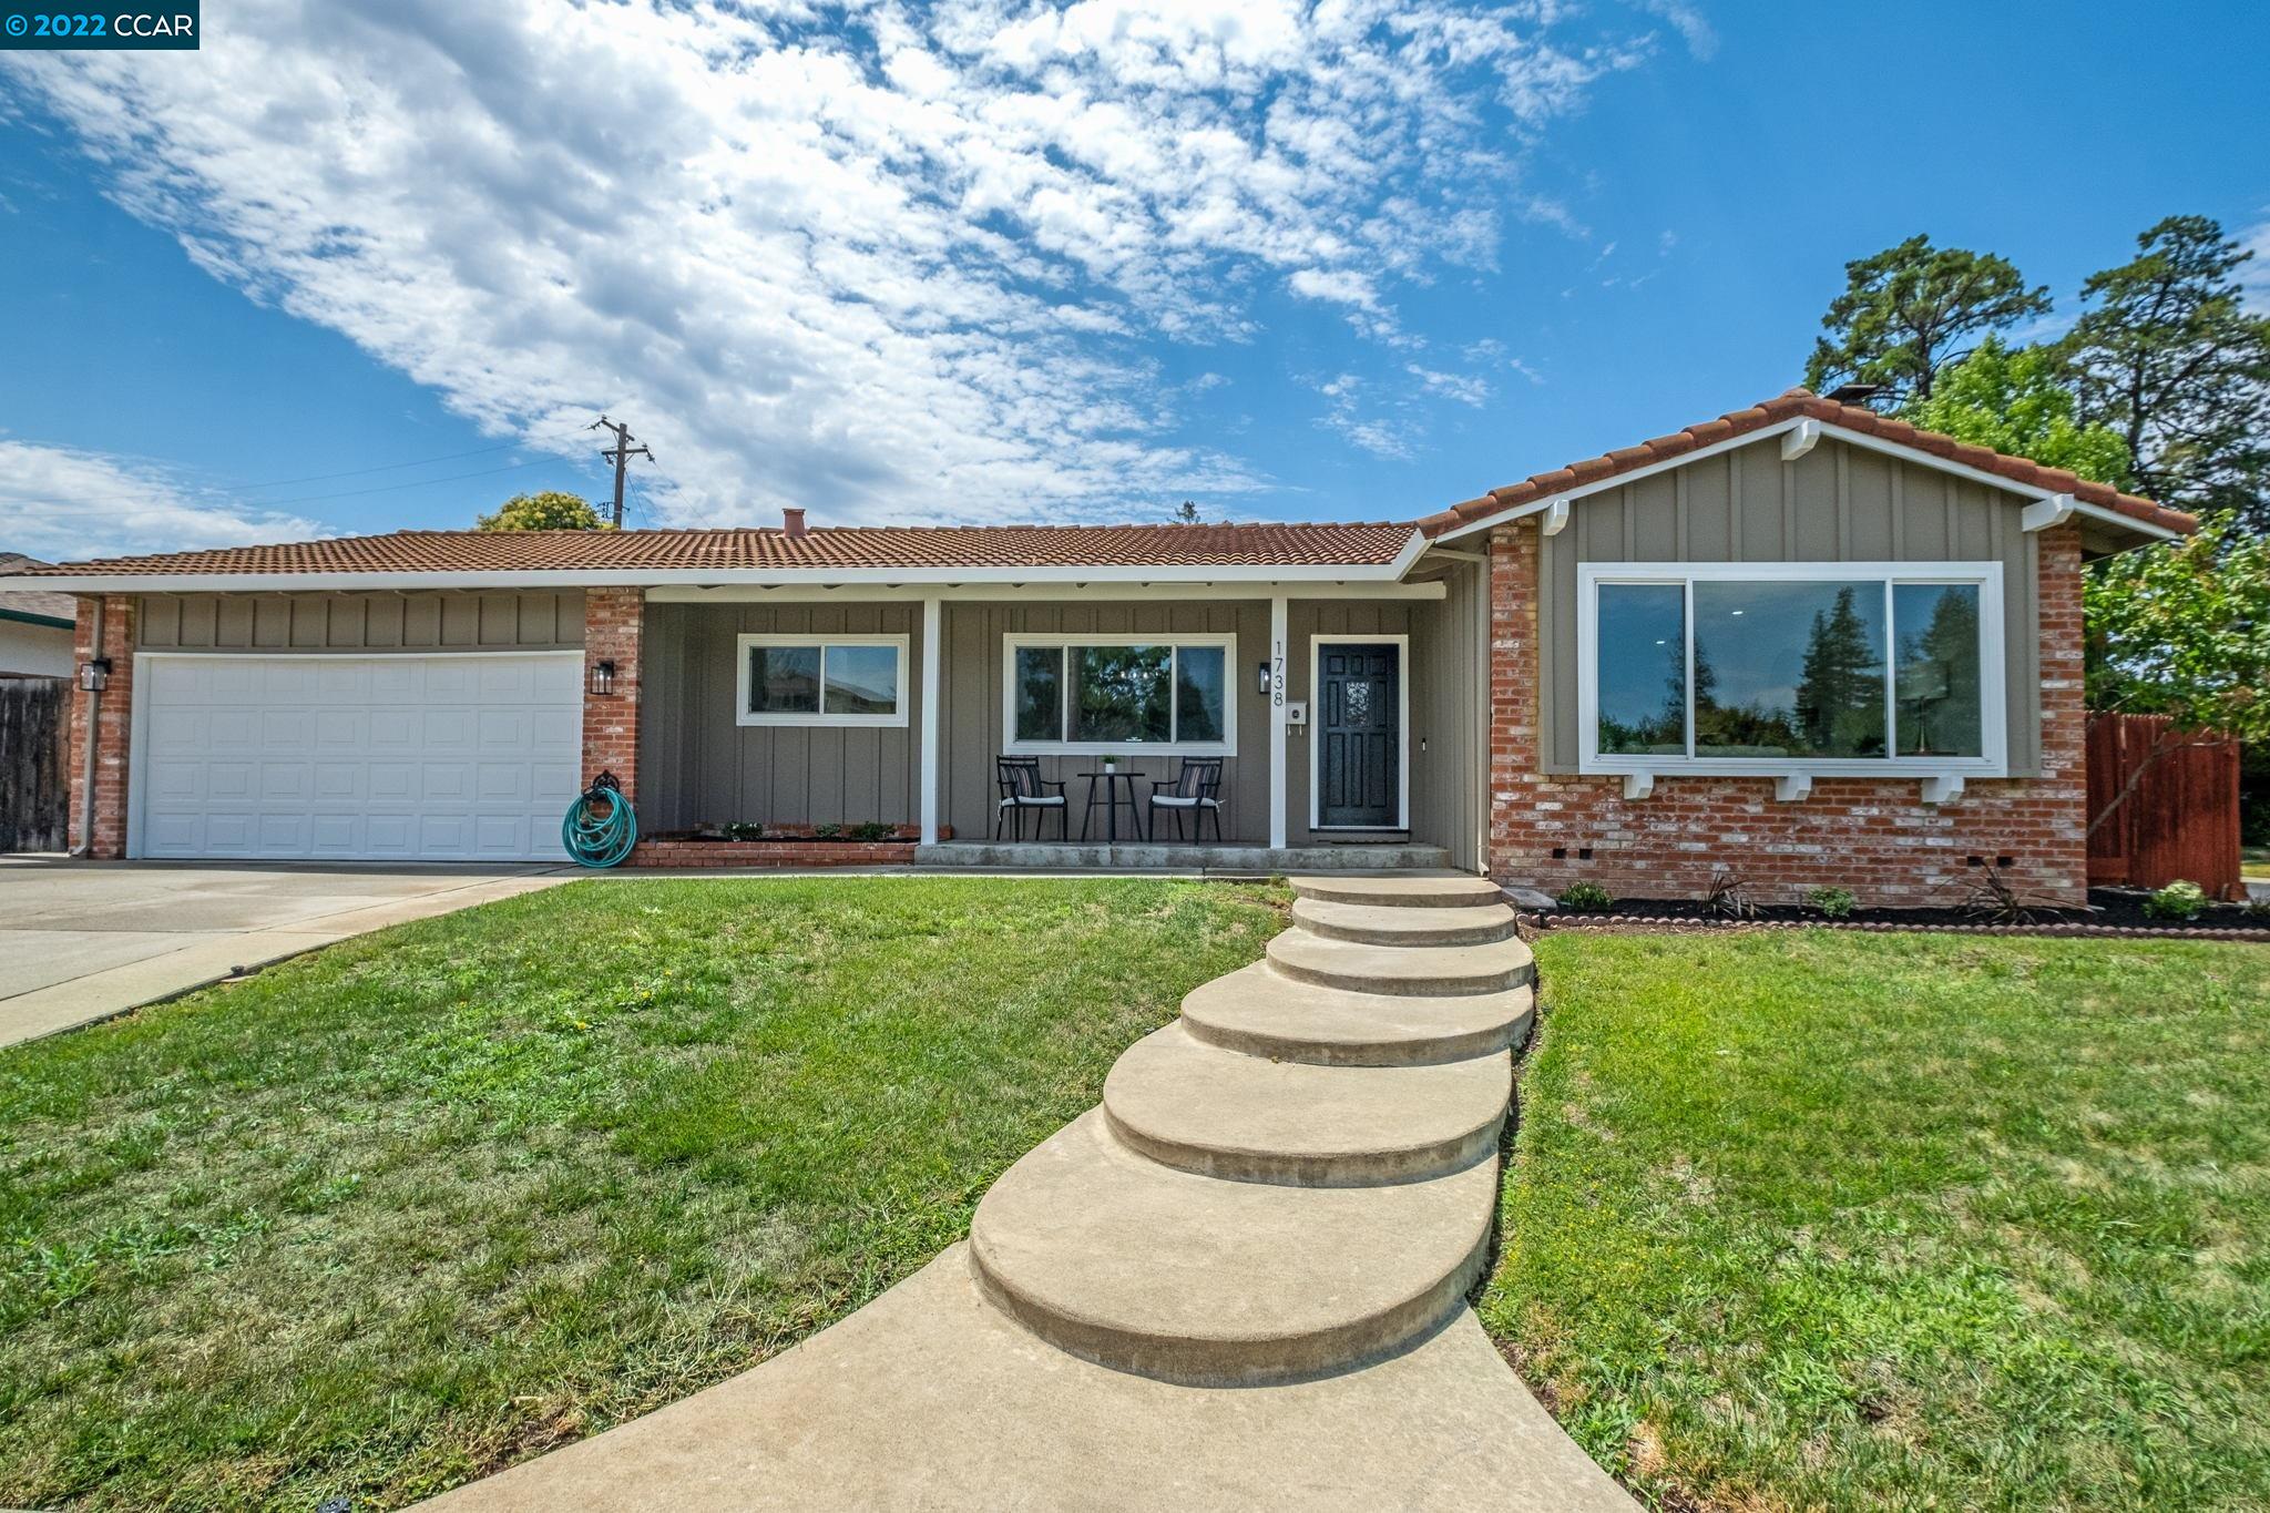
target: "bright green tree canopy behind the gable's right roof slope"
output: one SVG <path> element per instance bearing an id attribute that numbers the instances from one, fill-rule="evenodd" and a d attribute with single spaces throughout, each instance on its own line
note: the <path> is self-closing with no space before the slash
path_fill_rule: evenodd
<path id="1" fill-rule="evenodd" d="M 2129 449 L 2118 431 L 2077 420 L 2079 399 L 2066 383 L 2054 347 L 2004 347 L 1989 336 L 1977 352 L 1941 370 L 1927 399 L 1900 417 L 1925 431 L 2066 467 L 2084 479 L 2129 488 Z"/>

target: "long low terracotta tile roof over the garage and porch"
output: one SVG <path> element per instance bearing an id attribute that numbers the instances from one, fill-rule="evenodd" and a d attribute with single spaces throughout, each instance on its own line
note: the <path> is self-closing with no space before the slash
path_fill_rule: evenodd
<path id="1" fill-rule="evenodd" d="M 1380 567 L 1407 524 L 397 531 L 43 567 L 45 574 L 704 572 L 826 567 Z"/>

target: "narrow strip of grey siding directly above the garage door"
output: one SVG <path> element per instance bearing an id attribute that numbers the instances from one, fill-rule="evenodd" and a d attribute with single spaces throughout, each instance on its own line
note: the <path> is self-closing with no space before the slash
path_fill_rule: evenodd
<path id="1" fill-rule="evenodd" d="M 141 651 L 574 651 L 581 590 L 143 594 Z"/>

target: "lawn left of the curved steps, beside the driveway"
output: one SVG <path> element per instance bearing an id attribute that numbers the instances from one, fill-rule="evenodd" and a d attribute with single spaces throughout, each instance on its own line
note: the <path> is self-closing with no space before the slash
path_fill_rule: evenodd
<path id="1" fill-rule="evenodd" d="M 581 882 L 0 1053 L 0 1506 L 400 1506 L 745 1370 L 1280 903 Z"/>

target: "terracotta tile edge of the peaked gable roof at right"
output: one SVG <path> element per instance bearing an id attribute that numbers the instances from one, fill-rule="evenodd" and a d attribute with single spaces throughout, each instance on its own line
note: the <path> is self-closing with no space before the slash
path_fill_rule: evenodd
<path id="1" fill-rule="evenodd" d="M 1505 488 L 1494 488 L 1480 499 L 1469 499 L 1464 504 L 1453 504 L 1439 515 L 1428 515 L 1419 522 L 1419 529 L 1428 535 L 1441 535 L 1444 531 L 1471 524 L 1476 519 L 1487 519 L 1498 510 L 1521 508 L 1523 504 L 1537 504 L 1539 499 L 1550 499 L 1557 492 L 1598 483 L 1600 479 L 1614 479 L 1616 474 L 1632 472 L 1634 467 L 1646 467 L 1648 463 L 1662 463 L 1675 458 L 1684 451 L 1696 451 L 1698 447 L 1709 447 L 1714 442 L 1732 440 L 1750 431 L 1764 431 L 1766 426 L 1793 420 L 1798 415 L 1811 415 L 1814 420 L 1832 426 L 1843 426 L 1846 431 L 1859 431 L 1864 436 L 1880 436 L 1886 442 L 1898 442 L 1902 447 L 1914 447 L 1916 451 L 1927 451 L 1950 463 L 1964 463 L 1966 467 L 1977 467 L 1979 472 L 1991 472 L 2009 479 L 2011 483 L 2025 483 L 2027 488 L 2043 488 L 2059 495 L 2073 495 L 2082 504 L 2095 504 L 2107 510 L 2127 515 L 2129 519 L 2141 519 L 2143 524 L 2161 526 L 2168 531 L 2191 533 L 2197 529 L 2197 519 L 2184 515 L 2181 510 L 2170 510 L 2150 499 L 2138 499 L 2136 495 L 2122 495 L 2107 483 L 2091 483 L 2079 479 L 2063 467 L 2043 467 L 2041 463 L 2029 463 L 2023 456 L 2007 456 L 2002 451 L 1991 451 L 1986 447 L 1973 447 L 1970 442 L 1959 442 L 1952 436 L 1941 436 L 1939 431 L 1918 431 L 1905 420 L 1891 420 L 1889 415 L 1877 415 L 1875 411 L 1861 408 L 1857 404 L 1836 404 L 1834 399 L 1823 399 L 1807 388 L 1791 388 L 1777 399 L 1766 399 L 1764 404 L 1752 404 L 1746 411 L 1734 411 L 1721 415 L 1718 420 L 1705 420 L 1698 426 L 1687 426 L 1684 431 L 1673 431 L 1671 436 L 1657 436 L 1650 442 L 1637 447 L 1621 447 L 1605 456 L 1584 458 L 1582 463 L 1569 463 L 1566 467 L 1555 467 L 1553 472 L 1530 474 L 1521 483 L 1507 483 Z"/>

